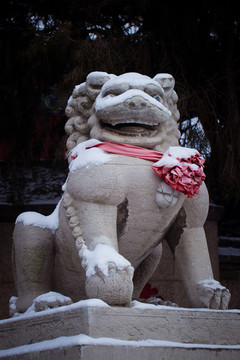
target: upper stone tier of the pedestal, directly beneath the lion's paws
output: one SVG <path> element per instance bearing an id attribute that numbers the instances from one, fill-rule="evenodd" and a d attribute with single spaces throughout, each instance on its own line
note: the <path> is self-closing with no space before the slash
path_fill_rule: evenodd
<path id="1" fill-rule="evenodd" d="M 32 316 L 2 320 L 0 346 L 6 349 L 80 333 L 122 340 L 240 344 L 240 311 L 151 307 L 101 308 L 73 304 Z"/>

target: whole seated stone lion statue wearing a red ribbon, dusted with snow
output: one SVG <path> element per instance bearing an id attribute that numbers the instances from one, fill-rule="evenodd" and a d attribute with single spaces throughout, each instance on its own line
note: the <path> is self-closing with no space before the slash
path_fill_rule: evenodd
<path id="1" fill-rule="evenodd" d="M 75 87 L 62 199 L 49 216 L 16 220 L 17 312 L 49 291 L 127 305 L 156 269 L 163 239 L 192 306 L 227 308 L 230 294 L 213 279 L 203 229 L 203 160 L 178 144 L 177 100 L 169 74 L 92 72 Z"/>

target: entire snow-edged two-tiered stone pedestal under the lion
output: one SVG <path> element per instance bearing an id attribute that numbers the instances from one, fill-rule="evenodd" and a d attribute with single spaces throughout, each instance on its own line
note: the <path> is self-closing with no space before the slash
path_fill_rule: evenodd
<path id="1" fill-rule="evenodd" d="M 240 310 L 92 304 L 0 321 L 0 359 L 240 358 Z"/>

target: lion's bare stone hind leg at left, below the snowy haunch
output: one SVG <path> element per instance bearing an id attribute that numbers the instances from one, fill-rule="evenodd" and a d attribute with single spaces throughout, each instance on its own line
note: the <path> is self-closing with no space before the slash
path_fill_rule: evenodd
<path id="1" fill-rule="evenodd" d="M 16 312 L 25 312 L 35 297 L 51 290 L 53 246 L 54 234 L 49 228 L 16 223 L 13 233 Z"/>

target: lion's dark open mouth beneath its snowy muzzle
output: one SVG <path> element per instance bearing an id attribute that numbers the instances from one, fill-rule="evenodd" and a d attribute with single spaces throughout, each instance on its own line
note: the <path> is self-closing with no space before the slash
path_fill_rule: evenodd
<path id="1" fill-rule="evenodd" d="M 100 126 L 105 130 L 117 133 L 124 136 L 153 136 L 157 132 L 159 125 L 139 123 L 134 120 L 127 120 L 127 122 L 116 123 L 115 125 L 100 120 Z"/>

